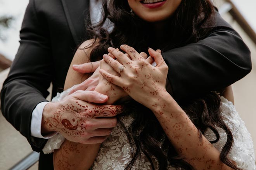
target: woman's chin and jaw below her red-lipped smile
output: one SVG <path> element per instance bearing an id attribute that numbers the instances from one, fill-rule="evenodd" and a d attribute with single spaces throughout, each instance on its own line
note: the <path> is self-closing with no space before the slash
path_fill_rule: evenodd
<path id="1" fill-rule="evenodd" d="M 140 0 L 128 0 L 133 12 L 148 22 L 159 22 L 168 19 L 178 8 L 181 0 L 166 0 L 163 6 L 158 8 L 147 8 Z"/>

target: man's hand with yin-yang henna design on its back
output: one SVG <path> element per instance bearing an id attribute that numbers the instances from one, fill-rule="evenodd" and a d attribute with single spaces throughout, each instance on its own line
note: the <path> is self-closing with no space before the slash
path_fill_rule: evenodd
<path id="1" fill-rule="evenodd" d="M 121 105 L 92 104 L 106 101 L 106 95 L 79 90 L 60 102 L 49 103 L 43 110 L 42 133 L 57 131 L 69 141 L 102 143 L 117 124 L 115 116 L 123 111 Z"/>

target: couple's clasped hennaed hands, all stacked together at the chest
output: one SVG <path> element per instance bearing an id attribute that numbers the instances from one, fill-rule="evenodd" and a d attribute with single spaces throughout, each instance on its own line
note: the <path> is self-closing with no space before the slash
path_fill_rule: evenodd
<path id="1" fill-rule="evenodd" d="M 121 46 L 121 49 L 126 54 L 109 48 L 109 54 L 105 54 L 102 61 L 73 66 L 73 69 L 79 72 L 95 72 L 73 88 L 61 102 L 45 106 L 44 112 L 50 113 L 43 114 L 42 123 L 45 128 L 42 130 L 45 133 L 57 131 L 70 141 L 84 144 L 102 143 L 116 126 L 116 114 L 123 111 L 121 105 L 108 105 L 107 101 L 114 103 L 118 98 L 130 95 L 137 102 L 150 108 L 149 100 L 157 97 L 159 92 L 165 89 L 168 66 L 159 51 L 149 49 L 150 57 L 147 58 L 145 53 L 139 54 L 127 45 Z M 154 61 L 156 67 L 151 65 Z M 97 68 L 99 65 L 104 70 Z M 122 65 L 124 70 L 119 75 L 119 66 Z M 82 69 L 83 66 L 86 66 L 86 69 Z M 106 92 L 107 96 L 89 91 L 97 89 L 102 82 L 111 86 L 112 91 Z M 118 95 L 113 95 L 113 92 Z"/>

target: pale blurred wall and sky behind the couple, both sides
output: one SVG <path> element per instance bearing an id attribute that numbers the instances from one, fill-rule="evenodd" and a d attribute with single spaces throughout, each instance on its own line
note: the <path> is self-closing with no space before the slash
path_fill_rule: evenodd
<path id="1" fill-rule="evenodd" d="M 223 7 L 225 0 L 214 0 L 214 3 L 217 7 Z M 19 47 L 19 30 L 27 4 L 28 0 L 0 0 L 0 19 L 11 18 L 8 21 L 8 28 L 0 25 L 0 60 L 2 57 L 3 63 L 7 65 L 10 65 Z M 256 16 L 255 7 L 255 0 L 244 0 L 240 5 L 240 8 L 249 12 L 248 16 L 252 19 Z M 239 32 L 251 50 L 253 70 L 245 78 L 234 83 L 232 87 L 235 106 L 251 133 L 256 149 L 256 45 L 230 14 L 225 13 L 222 16 Z M 254 24 L 256 31 L 256 20 Z M 7 69 L 0 72 L 1 88 L 8 71 Z M 26 139 L 5 120 L 2 114 L 0 114 L 0 136 L 0 170 L 9 169 L 32 151 Z M 36 170 L 37 166 L 35 164 L 30 170 Z"/>

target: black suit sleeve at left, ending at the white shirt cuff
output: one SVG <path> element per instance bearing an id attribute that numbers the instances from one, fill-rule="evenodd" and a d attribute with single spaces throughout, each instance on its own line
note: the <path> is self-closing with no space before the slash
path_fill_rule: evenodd
<path id="1" fill-rule="evenodd" d="M 32 149 L 41 151 L 46 140 L 31 136 L 31 114 L 38 103 L 47 101 L 53 66 L 47 22 L 38 19 L 34 5 L 30 0 L 20 32 L 20 47 L 1 91 L 1 107 L 7 121 L 28 139 Z"/>

